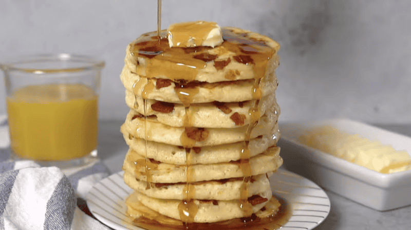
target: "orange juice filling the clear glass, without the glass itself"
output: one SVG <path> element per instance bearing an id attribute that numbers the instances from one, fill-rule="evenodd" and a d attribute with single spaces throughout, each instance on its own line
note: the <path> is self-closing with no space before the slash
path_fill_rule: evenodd
<path id="1" fill-rule="evenodd" d="M 98 96 L 84 85 L 28 86 L 7 98 L 11 148 L 22 158 L 61 161 L 97 149 Z"/>

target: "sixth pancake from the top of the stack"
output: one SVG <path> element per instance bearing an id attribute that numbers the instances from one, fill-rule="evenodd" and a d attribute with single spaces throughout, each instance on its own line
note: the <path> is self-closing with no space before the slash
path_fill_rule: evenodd
<path id="1" fill-rule="evenodd" d="M 266 152 L 251 157 L 250 160 L 251 176 L 274 172 L 283 163 L 279 156 L 279 148 L 272 147 Z M 146 164 L 150 172 L 146 173 Z M 191 181 L 186 176 L 185 165 L 174 165 L 162 162 L 155 162 L 136 154 L 129 150 L 125 156 L 123 170 L 124 172 L 134 174 L 139 180 L 147 181 L 147 175 L 150 175 L 150 182 L 154 183 L 178 183 L 178 182 L 197 182 L 207 180 L 220 180 L 227 178 L 243 177 L 239 161 L 216 163 L 216 164 L 194 164 L 191 165 Z"/>

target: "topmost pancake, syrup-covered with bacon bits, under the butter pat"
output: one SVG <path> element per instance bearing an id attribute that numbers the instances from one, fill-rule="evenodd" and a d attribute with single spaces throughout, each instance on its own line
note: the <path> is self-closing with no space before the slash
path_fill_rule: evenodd
<path id="1" fill-rule="evenodd" d="M 165 78 L 165 79 L 186 79 L 188 81 L 202 81 L 202 82 L 220 82 L 228 80 L 244 80 L 255 79 L 263 77 L 267 72 L 275 69 L 278 64 L 274 60 L 276 52 L 279 50 L 279 45 L 276 41 L 269 37 L 260 35 L 248 30 L 242 30 L 239 28 L 225 27 L 222 28 L 223 38 L 225 38 L 225 44 L 217 46 L 215 48 L 209 47 L 197 47 L 197 48 L 170 48 L 167 40 L 161 39 L 160 42 L 164 45 L 157 45 L 160 49 L 154 52 L 138 52 L 141 43 L 158 43 L 155 37 L 156 32 L 146 33 L 141 35 L 138 39 L 133 41 L 127 46 L 126 57 L 124 59 L 127 69 L 138 74 L 139 76 L 147 78 Z M 165 31 L 162 31 L 162 35 L 166 37 Z M 149 47 L 150 45 L 145 45 Z M 171 50 L 171 51 L 170 51 Z M 171 55 L 163 56 L 162 53 L 170 52 Z M 244 55 L 254 57 L 253 66 L 247 65 L 245 61 L 237 61 L 235 56 L 238 56 L 238 52 Z M 197 59 L 194 56 L 198 54 L 212 54 L 216 55 L 213 60 L 203 61 Z M 175 56 L 180 56 L 180 60 L 184 60 L 184 65 L 181 68 L 176 67 Z M 267 60 L 266 56 L 274 57 Z M 230 58 L 229 63 L 223 63 L 222 65 L 216 64 L 216 61 L 226 61 Z M 270 62 L 272 61 L 272 62 Z M 192 68 L 195 66 L 196 68 Z M 185 68 L 184 68 L 185 67 Z M 258 70 L 256 70 L 258 68 Z M 178 71 L 175 74 L 174 70 Z M 261 69 L 261 71 L 259 71 Z M 162 71 L 165 70 L 165 71 Z M 237 72 L 238 74 L 232 74 Z"/>

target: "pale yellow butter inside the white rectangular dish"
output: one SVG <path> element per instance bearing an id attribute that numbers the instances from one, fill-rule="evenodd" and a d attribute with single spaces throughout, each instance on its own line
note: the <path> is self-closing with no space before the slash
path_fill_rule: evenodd
<path id="1" fill-rule="evenodd" d="M 396 173 L 411 169 L 406 151 L 370 141 L 360 135 L 340 132 L 331 126 L 316 127 L 305 132 L 299 141 L 309 147 L 380 173 Z"/>

